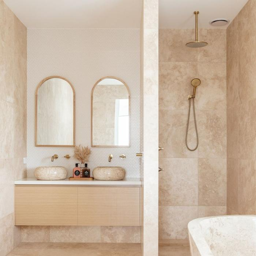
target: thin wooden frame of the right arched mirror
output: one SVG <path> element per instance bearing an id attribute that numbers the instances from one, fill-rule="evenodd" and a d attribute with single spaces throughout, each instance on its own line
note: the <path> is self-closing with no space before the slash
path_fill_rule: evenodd
<path id="1" fill-rule="evenodd" d="M 121 83 L 124 84 L 124 86 L 127 89 L 128 92 L 128 100 L 129 100 L 129 145 L 128 146 L 116 146 L 116 145 L 94 145 L 93 144 L 93 91 L 95 87 L 98 85 L 99 82 L 101 82 L 104 79 L 116 79 L 119 80 Z M 131 93 L 128 85 L 124 82 L 124 80 L 117 78 L 116 76 L 105 76 L 101 79 L 99 79 L 93 86 L 93 89 L 91 90 L 91 147 L 131 147 Z"/>

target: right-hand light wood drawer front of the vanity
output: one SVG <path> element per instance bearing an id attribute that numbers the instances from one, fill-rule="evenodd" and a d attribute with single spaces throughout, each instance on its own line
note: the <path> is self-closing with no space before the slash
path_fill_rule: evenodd
<path id="1" fill-rule="evenodd" d="M 78 225 L 140 226 L 140 188 L 78 188 Z"/>

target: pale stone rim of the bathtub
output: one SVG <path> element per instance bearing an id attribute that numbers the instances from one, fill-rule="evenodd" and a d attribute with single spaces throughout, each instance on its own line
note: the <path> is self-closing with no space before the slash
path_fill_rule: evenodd
<path id="1" fill-rule="evenodd" d="M 197 248 L 197 251 L 200 255 L 203 256 L 213 256 L 213 253 L 207 244 L 206 240 L 204 239 L 202 228 L 200 222 L 205 219 L 213 219 L 213 218 L 220 218 L 220 217 L 253 217 L 256 218 L 256 215 L 218 215 L 218 216 L 209 216 L 203 218 L 193 219 L 188 223 L 188 233 L 189 233 L 189 244 L 191 246 L 190 239 L 193 239 L 193 242 Z M 191 248 L 192 250 L 192 248 Z"/>

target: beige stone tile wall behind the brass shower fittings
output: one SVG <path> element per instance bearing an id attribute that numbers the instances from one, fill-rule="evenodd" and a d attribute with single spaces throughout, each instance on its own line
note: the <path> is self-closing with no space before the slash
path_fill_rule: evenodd
<path id="1" fill-rule="evenodd" d="M 187 48 L 193 29 L 159 30 L 159 240 L 188 239 L 197 217 L 226 214 L 226 30 L 199 29 L 204 48 Z M 185 145 L 188 99 L 195 106 L 199 147 Z M 191 108 L 192 110 L 192 108 Z M 188 144 L 196 144 L 191 112 Z"/>

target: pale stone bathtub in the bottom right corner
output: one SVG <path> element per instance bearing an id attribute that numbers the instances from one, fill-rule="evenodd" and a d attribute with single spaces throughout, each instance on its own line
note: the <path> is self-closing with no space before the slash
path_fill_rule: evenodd
<path id="1" fill-rule="evenodd" d="M 192 256 L 255 256 L 256 215 L 226 215 L 188 223 Z"/>

